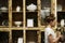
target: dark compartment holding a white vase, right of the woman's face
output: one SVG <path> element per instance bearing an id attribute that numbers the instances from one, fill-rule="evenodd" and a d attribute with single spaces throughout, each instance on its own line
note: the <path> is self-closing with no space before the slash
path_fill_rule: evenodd
<path id="1" fill-rule="evenodd" d="M 65 12 L 57 12 L 57 26 L 65 27 Z"/>

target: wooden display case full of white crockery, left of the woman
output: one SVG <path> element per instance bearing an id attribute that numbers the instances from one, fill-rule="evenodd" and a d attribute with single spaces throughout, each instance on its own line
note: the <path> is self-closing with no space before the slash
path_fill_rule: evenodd
<path id="1" fill-rule="evenodd" d="M 41 43 L 51 4 L 51 0 L 0 0 L 0 32 L 9 31 L 1 33 L 1 43 Z"/>

